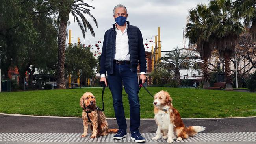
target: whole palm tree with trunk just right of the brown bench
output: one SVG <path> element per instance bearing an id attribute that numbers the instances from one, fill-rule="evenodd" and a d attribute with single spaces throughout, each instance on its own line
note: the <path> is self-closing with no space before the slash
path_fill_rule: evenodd
<path id="1" fill-rule="evenodd" d="M 209 9 L 213 13 L 213 25 L 209 36 L 215 36 L 217 50 L 220 56 L 224 57 L 226 90 L 233 90 L 230 57 L 234 55 L 239 35 L 244 31 L 241 22 L 233 18 L 231 7 L 231 0 L 213 0 L 209 4 Z"/>

